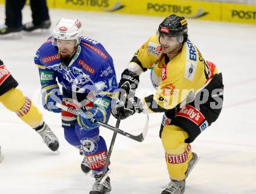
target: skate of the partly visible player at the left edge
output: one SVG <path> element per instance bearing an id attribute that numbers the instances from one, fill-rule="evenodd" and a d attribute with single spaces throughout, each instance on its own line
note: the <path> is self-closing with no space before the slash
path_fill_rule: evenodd
<path id="1" fill-rule="evenodd" d="M 42 140 L 44 140 L 45 144 L 50 148 L 52 151 L 56 151 L 59 148 L 59 141 L 52 130 L 48 127 L 46 123 L 40 129 L 35 129 L 37 133 L 40 134 Z"/>

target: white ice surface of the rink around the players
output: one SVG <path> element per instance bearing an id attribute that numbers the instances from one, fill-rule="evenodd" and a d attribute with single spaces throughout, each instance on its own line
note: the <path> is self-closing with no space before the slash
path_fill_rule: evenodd
<path id="1" fill-rule="evenodd" d="M 84 35 L 97 39 L 115 61 L 118 79 L 161 17 L 50 10 L 52 23 L 61 17 L 79 18 Z M 23 22 L 31 20 L 29 8 Z M 0 21 L 5 19 L 0 6 Z M 19 40 L 0 40 L 0 58 L 19 81 L 19 89 L 33 98 L 44 119 L 58 136 L 59 154 L 49 151 L 29 126 L 0 104 L 0 145 L 5 157 L 0 163 L 0 193 L 88 193 L 94 179 L 80 170 L 82 157 L 63 137 L 61 118 L 41 106 L 40 82 L 33 56 L 49 34 L 23 35 Z M 224 107 L 219 119 L 192 144 L 201 156 L 190 177 L 186 193 L 256 193 L 256 25 L 189 20 L 191 41 L 205 59 L 223 73 Z M 138 96 L 153 92 L 148 72 L 141 75 Z M 121 122 L 120 128 L 138 134 L 144 115 Z M 118 135 L 111 156 L 112 194 L 161 193 L 169 182 L 164 152 L 158 137 L 162 115 L 150 115 L 150 129 L 139 143 Z M 115 125 L 115 120 L 110 122 Z M 109 145 L 112 132 L 101 129 Z"/>

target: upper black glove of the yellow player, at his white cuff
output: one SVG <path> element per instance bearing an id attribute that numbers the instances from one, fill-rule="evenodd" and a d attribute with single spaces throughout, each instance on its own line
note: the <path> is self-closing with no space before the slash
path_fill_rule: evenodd
<path id="1" fill-rule="evenodd" d="M 134 74 L 129 69 L 125 69 L 123 71 L 120 82 L 119 88 L 126 91 L 129 94 L 130 90 L 136 90 L 138 87 L 138 83 L 140 82 L 139 75 Z"/>

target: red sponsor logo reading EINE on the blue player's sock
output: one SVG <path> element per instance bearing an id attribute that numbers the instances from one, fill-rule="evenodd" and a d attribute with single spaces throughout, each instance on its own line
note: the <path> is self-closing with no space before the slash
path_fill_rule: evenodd
<path id="1" fill-rule="evenodd" d="M 86 155 L 86 163 L 90 169 L 97 170 L 104 167 L 108 153 L 104 150 L 93 155 Z"/>

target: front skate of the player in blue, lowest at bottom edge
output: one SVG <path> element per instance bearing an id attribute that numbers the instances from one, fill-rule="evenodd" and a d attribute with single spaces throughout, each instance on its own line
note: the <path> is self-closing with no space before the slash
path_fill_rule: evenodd
<path id="1" fill-rule="evenodd" d="M 110 178 L 106 177 L 106 179 L 101 183 L 101 175 L 102 172 L 94 175 L 95 182 L 90 194 L 108 194 L 111 191 Z"/>

